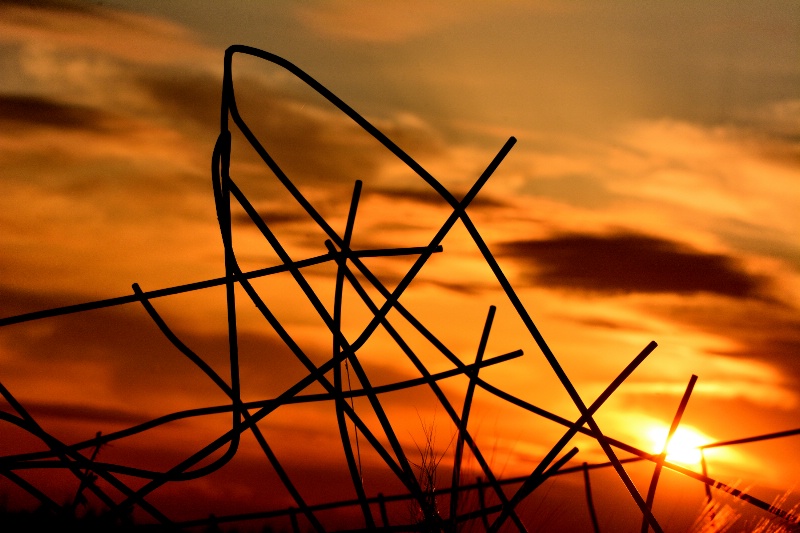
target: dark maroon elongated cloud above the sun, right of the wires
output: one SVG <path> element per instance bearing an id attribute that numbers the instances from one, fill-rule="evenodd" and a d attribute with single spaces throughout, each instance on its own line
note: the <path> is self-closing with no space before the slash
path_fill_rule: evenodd
<path id="1" fill-rule="evenodd" d="M 731 257 L 646 235 L 568 234 L 513 241 L 503 243 L 500 254 L 524 263 L 531 281 L 561 289 L 757 298 L 765 285 Z"/>

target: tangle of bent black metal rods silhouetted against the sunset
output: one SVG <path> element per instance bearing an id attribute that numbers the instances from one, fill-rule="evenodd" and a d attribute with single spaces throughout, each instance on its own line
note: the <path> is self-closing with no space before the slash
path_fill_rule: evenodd
<path id="1" fill-rule="evenodd" d="M 347 222 L 344 233 L 340 235 L 328 221 L 313 207 L 311 202 L 300 192 L 296 185 L 277 164 L 270 153 L 259 142 L 247 122 L 241 116 L 237 107 L 236 95 L 232 77 L 232 60 L 236 54 L 259 58 L 278 65 L 304 82 L 318 94 L 327 99 L 336 108 L 343 112 L 353 122 L 370 134 L 381 145 L 388 149 L 397 159 L 402 161 L 421 180 L 431 187 L 450 207 L 450 214 L 441 225 L 433 238 L 428 243 L 405 248 L 379 248 L 379 249 L 353 249 L 351 247 L 354 223 L 358 213 L 358 206 L 363 194 L 363 184 L 356 181 L 350 201 Z M 281 241 L 263 220 L 247 196 L 238 187 L 230 174 L 231 165 L 231 123 L 241 132 L 249 145 L 256 151 L 263 163 L 270 169 L 274 177 L 283 188 L 292 196 L 308 218 L 322 230 L 327 240 L 327 252 L 314 257 L 294 259 L 287 252 Z M 43 509 L 53 516 L 69 517 L 74 515 L 77 507 L 87 499 L 86 493 L 91 493 L 106 509 L 109 516 L 124 524 L 130 520 L 134 508 L 149 515 L 150 525 L 164 530 L 180 531 L 184 529 L 217 526 L 225 523 L 247 522 L 265 520 L 270 518 L 289 518 L 295 531 L 300 529 L 300 518 L 304 524 L 315 531 L 331 529 L 320 518 L 321 513 L 331 509 L 355 508 L 361 513 L 361 523 L 354 524 L 352 530 L 384 530 L 384 531 L 456 531 L 459 527 L 472 524 L 477 528 L 497 531 L 510 521 L 511 527 L 519 531 L 527 531 L 523 519 L 517 513 L 521 502 L 528 498 L 536 489 L 553 476 L 566 475 L 580 472 L 583 475 L 588 509 L 586 513 L 591 518 L 594 531 L 600 530 L 600 524 L 595 512 L 592 499 L 592 490 L 589 472 L 598 468 L 613 468 L 622 483 L 628 489 L 634 503 L 642 514 L 642 531 L 663 531 L 656 516 L 653 514 L 653 501 L 659 474 L 663 468 L 703 483 L 707 490 L 707 497 L 711 498 L 711 489 L 724 491 L 744 502 L 758 507 L 776 517 L 785 519 L 789 523 L 796 523 L 798 518 L 792 513 L 776 508 L 766 502 L 735 489 L 721 481 L 708 476 L 705 458 L 703 458 L 702 473 L 694 472 L 688 468 L 667 461 L 666 443 L 664 451 L 660 454 L 651 454 L 625 442 L 616 440 L 603 433 L 594 419 L 598 409 L 611 397 L 619 386 L 641 365 L 641 363 L 655 350 L 656 343 L 651 342 L 633 358 L 625 369 L 606 389 L 591 403 L 586 403 L 580 397 L 567 373 L 561 366 L 555 354 L 545 342 L 544 337 L 536 327 L 530 314 L 522 304 L 517 293 L 511 286 L 508 278 L 500 268 L 494 255 L 473 223 L 468 213 L 468 207 L 475 200 L 481 189 L 491 178 L 492 174 L 502 163 L 516 142 L 511 137 L 501 147 L 497 155 L 489 162 L 483 173 L 475 180 L 468 193 L 458 200 L 447 188 L 428 173 L 421 165 L 406 154 L 399 146 L 389 139 L 383 132 L 363 118 L 355 110 L 340 100 L 318 81 L 294 64 L 274 54 L 252 47 L 235 45 L 228 48 L 224 60 L 224 76 L 222 84 L 222 106 L 220 114 L 220 134 L 214 147 L 212 156 L 212 183 L 216 216 L 219 222 L 220 235 L 224 247 L 225 276 L 186 285 L 169 287 L 158 290 L 145 291 L 137 284 L 133 284 L 130 295 L 109 298 L 77 305 L 47 309 L 0 319 L 0 327 L 14 324 L 43 320 L 49 317 L 80 313 L 92 309 L 100 309 L 125 304 L 138 304 L 147 313 L 152 322 L 158 327 L 161 334 L 172 346 L 185 356 L 193 365 L 201 370 L 214 385 L 223 392 L 228 402 L 222 405 L 189 409 L 170 413 L 144 423 L 136 424 L 126 429 L 97 433 L 94 437 L 77 442 L 64 443 L 48 433 L 17 401 L 14 395 L 0 383 L 0 395 L 9 406 L 8 411 L 0 411 L 0 420 L 12 424 L 28 432 L 40 440 L 47 448 L 45 451 L 36 451 L 22 454 L 13 454 L 0 457 L 0 475 L 5 476 L 21 490 L 36 498 Z M 248 215 L 252 223 L 259 230 L 261 236 L 269 244 L 280 260 L 280 264 L 253 271 L 244 271 L 239 265 L 232 243 L 232 216 L 231 206 L 238 205 Z M 480 376 L 483 368 L 503 364 L 522 356 L 521 350 L 515 350 L 500 355 L 487 354 L 488 339 L 495 320 L 496 308 L 491 306 L 487 310 L 487 317 L 481 333 L 479 345 L 476 350 L 474 363 L 465 364 L 453 353 L 431 330 L 411 313 L 400 301 L 401 296 L 415 279 L 417 274 L 433 256 L 444 253 L 442 241 L 448 233 L 460 224 L 469 234 L 481 256 L 493 272 L 503 294 L 513 307 L 517 316 L 524 323 L 531 340 L 533 340 L 541 356 L 545 358 L 553 373 L 559 380 L 563 389 L 570 396 L 580 416 L 576 420 L 568 420 L 557 414 L 535 406 L 522 398 L 514 396 L 495 385 L 492 385 Z M 411 256 L 413 265 L 408 269 L 401 281 L 390 290 L 378 276 L 362 261 L 368 257 L 396 257 Z M 304 271 L 312 266 L 331 263 L 336 267 L 335 291 L 332 312 L 328 311 L 321 297 L 312 289 Z M 273 308 L 263 299 L 253 285 L 253 280 L 273 276 L 276 274 L 289 274 L 294 283 L 302 290 L 308 303 L 314 308 L 319 318 L 327 327 L 332 338 L 331 357 L 323 364 L 317 366 L 309 355 L 301 348 L 295 338 L 277 318 Z M 359 277 L 360 276 L 360 277 Z M 365 286 L 365 284 L 367 286 Z M 364 306 L 369 310 L 371 319 L 361 333 L 354 338 L 348 338 L 342 332 L 343 318 L 343 293 L 345 287 L 352 289 Z M 155 302 L 160 298 L 181 293 L 200 291 L 211 287 L 224 287 L 227 309 L 227 334 L 229 371 L 228 376 L 218 374 L 202 357 L 185 344 L 169 327 L 156 309 Z M 237 296 L 237 289 L 240 290 Z M 369 290 L 368 290 L 369 289 Z M 376 302 L 370 296 L 370 290 L 377 292 L 383 302 Z M 292 352 L 306 370 L 305 375 L 281 394 L 273 398 L 257 401 L 243 401 L 241 394 L 241 367 L 239 362 L 239 335 L 238 319 L 236 314 L 237 298 L 243 291 L 249 302 L 255 305 L 270 328 L 278 335 L 283 344 Z M 429 346 L 444 356 L 452 365 L 445 371 L 431 372 L 421 361 L 418 354 L 403 337 L 389 313 L 399 316 L 407 326 L 413 328 Z M 372 385 L 370 377 L 359 360 L 358 352 L 370 337 L 379 329 L 388 333 L 392 341 L 417 369 L 419 377 L 397 381 L 390 384 Z M 344 367 L 344 374 L 343 368 Z M 354 374 L 359 387 L 353 387 L 351 372 Z M 332 379 L 327 376 L 332 374 Z M 464 402 L 455 406 L 445 396 L 440 382 L 456 376 L 468 379 Z M 686 408 L 692 387 L 697 377 L 692 376 L 689 387 L 684 394 L 678 408 L 668 439 L 677 429 L 681 415 Z M 345 386 L 345 381 L 346 386 Z M 324 392 L 309 393 L 306 389 L 312 384 L 319 385 Z M 426 388 L 436 397 L 438 407 L 441 407 L 456 430 L 454 459 L 452 465 L 449 487 L 431 488 L 430 484 L 421 482 L 419 473 L 415 473 L 414 466 L 420 466 L 409 458 L 409 451 L 404 449 L 392 421 L 381 403 L 382 395 L 400 390 Z M 471 408 L 476 390 L 482 390 L 510 405 L 523 411 L 532 413 L 545 420 L 559 424 L 565 428 L 563 435 L 552 445 L 547 454 L 533 468 L 527 476 L 501 479 L 492 470 L 474 436 L 468 430 Z M 376 432 L 365 422 L 365 413 L 356 410 L 355 398 L 363 398 L 369 405 L 368 416 L 378 421 L 380 431 Z M 303 497 L 300 488 L 292 480 L 280 459 L 270 446 L 269 440 L 261 432 L 258 422 L 279 409 L 304 403 L 332 402 L 335 407 L 335 424 L 338 430 L 345 462 L 352 483 L 355 499 L 333 500 L 321 504 L 309 504 Z M 363 404 L 361 404 L 363 405 Z M 361 408 L 363 409 L 363 407 Z M 214 415 L 225 414 L 229 416 L 230 429 L 219 435 L 208 445 L 184 457 L 175 466 L 166 469 L 147 469 L 102 460 L 100 450 L 102 447 L 116 441 L 124 441 L 131 437 L 147 434 L 157 428 L 173 424 L 181 420 L 202 419 Z M 355 438 L 351 438 L 351 431 Z M 197 519 L 175 521 L 169 518 L 168 513 L 158 509 L 149 497 L 162 489 L 165 485 L 180 484 L 182 481 L 198 479 L 208 476 L 227 465 L 238 453 L 242 435 L 251 433 L 258 443 L 264 459 L 276 473 L 280 483 L 290 495 L 293 506 L 288 508 L 265 509 L 260 512 L 247 514 L 230 514 L 225 516 L 198 517 Z M 577 448 L 564 452 L 577 434 L 587 435 L 594 439 L 602 448 L 607 457 L 607 462 L 587 464 L 582 462 L 579 466 L 567 467 L 567 464 L 579 453 Z M 748 437 L 735 441 L 712 443 L 703 446 L 703 450 L 754 442 L 783 438 L 800 433 L 798 430 L 773 433 L 769 435 Z M 355 448 L 353 447 L 355 440 Z M 370 496 L 364 487 L 364 468 L 361 461 L 361 447 L 369 447 L 385 463 L 386 467 L 404 487 L 405 492 L 399 494 Z M 475 483 L 465 483 L 463 479 L 463 458 L 465 450 L 469 450 L 480 470 L 480 477 Z M 427 450 L 430 452 L 432 450 Z M 620 458 L 619 452 L 632 457 Z M 86 454 L 89 454 L 87 457 Z M 209 458 L 216 458 L 209 461 Z M 640 494 L 631 481 L 625 465 L 636 461 L 650 461 L 654 464 L 654 473 L 645 496 Z M 59 469 L 67 470 L 78 482 L 78 490 L 73 501 L 67 505 L 56 503 L 44 490 L 27 481 L 19 473 L 27 470 Z M 430 474 L 430 472 L 427 472 Z M 142 480 L 137 488 L 126 483 L 121 476 L 133 477 Z M 103 489 L 98 483 L 104 481 L 109 487 L 115 489 L 112 496 L 109 490 Z M 510 490 L 509 490 L 510 489 Z M 435 490 L 435 494 L 432 491 Z M 477 496 L 478 504 L 469 507 L 467 495 Z M 448 505 L 437 506 L 436 498 L 448 498 Z M 470 500 L 474 501 L 474 500 Z M 386 505 L 391 502 L 412 502 L 420 510 L 415 520 L 399 520 L 396 516 L 390 517 Z M 379 516 L 375 515 L 375 506 L 379 509 Z M 442 509 L 447 509 L 443 512 Z M 419 518 L 421 517 L 421 518 Z M 393 521 L 393 523 L 390 523 Z"/>

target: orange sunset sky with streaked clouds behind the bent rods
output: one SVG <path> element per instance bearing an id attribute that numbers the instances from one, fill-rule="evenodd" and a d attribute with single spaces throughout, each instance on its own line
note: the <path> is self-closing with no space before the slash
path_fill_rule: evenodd
<path id="1" fill-rule="evenodd" d="M 0 317 L 129 295 L 133 283 L 148 291 L 225 274 L 211 155 L 232 44 L 303 69 L 457 198 L 516 137 L 468 213 L 584 402 L 658 343 L 595 417 L 605 434 L 660 452 L 648 436 L 669 426 L 692 374 L 699 379 L 682 426 L 704 442 L 800 427 L 800 4 L 792 1 L 0 1 Z M 236 56 L 233 79 L 244 119 L 340 234 L 363 181 L 354 250 L 430 243 L 451 209 L 394 155 L 280 67 Z M 231 131 L 231 175 L 292 259 L 324 254 L 324 233 Z M 244 270 L 280 264 L 241 209 L 233 242 Z M 464 226 L 442 246 L 401 302 L 465 363 L 496 305 L 487 357 L 525 355 L 481 376 L 576 419 Z M 391 289 L 413 259 L 365 263 Z M 306 276 L 332 309 L 335 266 Z M 331 357 L 328 329 L 288 274 L 254 285 L 316 364 Z M 280 394 L 306 371 L 244 291 L 237 297 L 243 398 Z M 152 303 L 227 375 L 224 288 Z M 344 334 L 355 338 L 371 314 L 352 290 L 345 311 Z M 423 346 L 431 371 L 452 368 Z M 373 385 L 419 376 L 386 334 L 359 358 Z M 226 402 L 137 304 L 0 328 L 0 381 L 67 442 Z M 466 383 L 442 382 L 456 406 Z M 433 425 L 445 452 L 455 430 L 430 391 L 385 402 L 409 450 Z M 475 402 L 470 430 L 498 474 L 529 473 L 564 432 L 488 394 Z M 229 422 L 186 422 L 102 454 L 166 468 Z M 352 497 L 330 404 L 287 407 L 263 430 L 298 479 L 323 472 L 340 491 L 331 497 L 309 484 L 310 501 Z M 3 455 L 24 448 L 15 435 L 0 436 Z M 709 452 L 709 473 L 771 501 L 796 489 L 798 444 Z M 574 464 L 606 460 L 589 439 L 575 445 Z M 218 481 L 160 497 L 194 499 L 197 508 L 182 503 L 179 518 L 279 507 L 284 496 L 263 489 L 274 475 L 252 466 L 263 463 L 259 453 L 243 443 Z M 372 475 L 377 492 L 386 473 L 377 456 L 364 460 L 373 465 L 365 486 Z M 643 491 L 649 471 L 636 471 Z M 560 486 L 567 493 L 580 482 Z M 621 490 L 611 475 L 603 482 Z M 685 487 L 701 501 L 699 483 Z M 9 482 L 0 490 L 30 504 Z"/>

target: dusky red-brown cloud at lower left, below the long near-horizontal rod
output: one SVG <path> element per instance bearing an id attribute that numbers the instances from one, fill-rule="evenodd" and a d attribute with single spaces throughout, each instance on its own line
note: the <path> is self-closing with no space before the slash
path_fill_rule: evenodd
<path id="1" fill-rule="evenodd" d="M 4 318 L 91 301 L 86 295 L 70 301 L 64 296 L 3 286 L 0 295 L 0 317 Z M 283 295 L 279 300 L 273 291 L 262 297 L 309 358 L 319 364 L 329 357 L 327 352 L 320 353 L 316 337 L 309 338 L 302 331 L 303 325 L 286 319 L 287 307 L 292 306 L 286 305 Z M 211 289 L 152 303 L 176 335 L 227 381 L 230 362 L 224 293 Z M 199 322 L 192 306 L 212 308 L 216 313 L 205 311 L 205 320 Z M 263 319 L 257 321 L 258 329 L 252 324 L 240 313 L 242 394 L 247 400 L 274 397 L 305 377 L 308 370 Z M 152 416 L 227 401 L 135 303 L 0 328 L 0 379 L 24 404 L 32 401 L 42 406 L 44 414 L 61 418 L 78 417 L 78 409 L 71 407 L 76 405 L 100 409 L 89 412 L 88 419 L 112 421 L 123 411 Z M 52 408 L 60 401 L 66 404 L 64 410 Z"/>

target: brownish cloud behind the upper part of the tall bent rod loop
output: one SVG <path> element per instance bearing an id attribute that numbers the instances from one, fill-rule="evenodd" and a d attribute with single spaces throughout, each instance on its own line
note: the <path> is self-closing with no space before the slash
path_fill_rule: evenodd
<path id="1" fill-rule="evenodd" d="M 218 132 L 222 79 L 207 74 L 162 73 L 143 76 L 140 84 L 161 108 L 164 120 L 175 124 L 187 119 L 207 131 Z M 299 97 L 251 79 L 236 79 L 236 104 L 247 126 L 281 169 L 298 184 L 304 182 L 348 184 L 375 175 L 382 158 L 366 146 L 366 133 L 344 115 L 322 111 Z M 260 162 L 237 126 L 232 157 L 238 162 Z M 265 173 L 268 173 L 264 165 Z"/>

